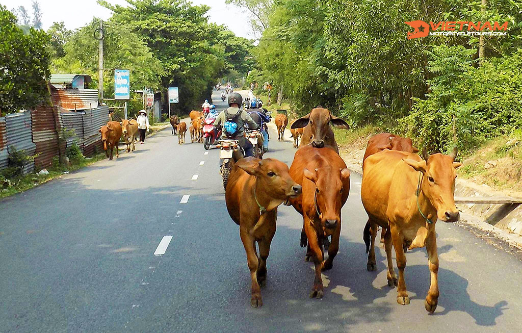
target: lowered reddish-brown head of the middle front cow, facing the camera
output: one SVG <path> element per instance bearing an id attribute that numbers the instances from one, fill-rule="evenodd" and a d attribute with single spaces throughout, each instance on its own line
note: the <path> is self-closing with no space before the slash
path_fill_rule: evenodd
<path id="1" fill-rule="evenodd" d="M 337 228 L 341 222 L 342 198 L 348 196 L 350 188 L 350 170 L 332 167 L 314 171 L 304 169 L 304 176 L 315 184 L 315 204 L 323 227 Z"/>

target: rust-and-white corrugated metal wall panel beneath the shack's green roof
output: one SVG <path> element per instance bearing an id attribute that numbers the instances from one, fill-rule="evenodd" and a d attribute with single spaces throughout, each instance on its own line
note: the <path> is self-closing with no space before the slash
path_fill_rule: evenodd
<path id="1" fill-rule="evenodd" d="M 88 110 L 98 107 L 98 90 L 96 89 L 51 89 L 54 105 L 68 111 Z"/>

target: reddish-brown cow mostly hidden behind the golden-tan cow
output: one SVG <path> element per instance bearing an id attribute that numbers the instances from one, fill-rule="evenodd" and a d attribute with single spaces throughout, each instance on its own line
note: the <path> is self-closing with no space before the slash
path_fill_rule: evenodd
<path id="1" fill-rule="evenodd" d="M 364 152 L 364 157 L 362 159 L 363 170 L 364 161 L 366 160 L 366 158 L 384 149 L 406 151 L 411 153 L 419 152 L 419 149 L 413 147 L 413 142 L 410 138 L 403 138 L 391 133 L 379 133 L 372 136 L 370 140 L 368 140 L 368 144 L 366 145 L 366 151 Z M 369 230 L 369 228 L 370 221 L 366 223 L 365 230 Z M 383 247 L 385 234 L 386 228 L 383 228 L 383 230 L 381 231 L 381 244 Z"/>

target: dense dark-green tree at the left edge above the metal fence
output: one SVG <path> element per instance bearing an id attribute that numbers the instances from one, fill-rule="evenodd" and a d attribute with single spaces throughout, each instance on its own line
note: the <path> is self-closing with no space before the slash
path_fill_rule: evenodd
<path id="1" fill-rule="evenodd" d="M 16 24 L 16 17 L 2 5 L 0 27 L 0 113 L 5 115 L 46 103 L 49 36 L 35 29 L 24 34 Z"/>

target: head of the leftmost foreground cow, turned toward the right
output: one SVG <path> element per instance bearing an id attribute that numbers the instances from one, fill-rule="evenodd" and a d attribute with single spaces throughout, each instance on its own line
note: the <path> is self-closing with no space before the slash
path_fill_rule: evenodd
<path id="1" fill-rule="evenodd" d="M 293 181 L 287 165 L 279 160 L 269 158 L 258 160 L 248 157 L 241 159 L 236 165 L 256 177 L 257 196 L 264 193 L 273 198 L 274 202 L 271 205 L 275 207 L 301 194 L 301 185 Z"/>

